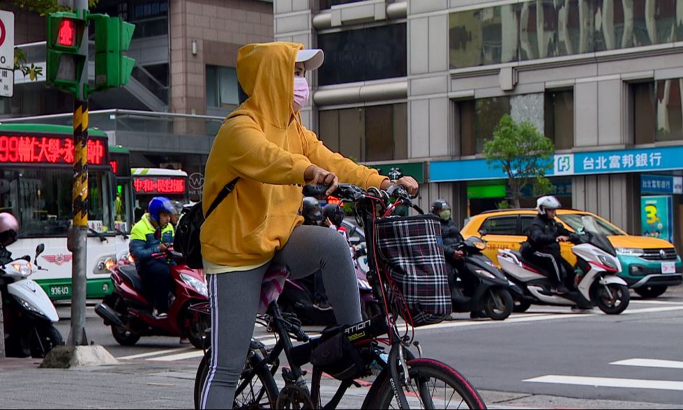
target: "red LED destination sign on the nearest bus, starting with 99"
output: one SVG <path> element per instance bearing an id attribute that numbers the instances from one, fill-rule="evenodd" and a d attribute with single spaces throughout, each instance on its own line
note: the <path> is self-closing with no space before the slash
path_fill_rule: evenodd
<path id="1" fill-rule="evenodd" d="M 73 164 L 73 139 L 38 135 L 0 135 L 0 162 L 24 164 Z M 88 140 L 88 162 L 102 165 L 107 159 L 107 144 L 102 139 Z"/>

